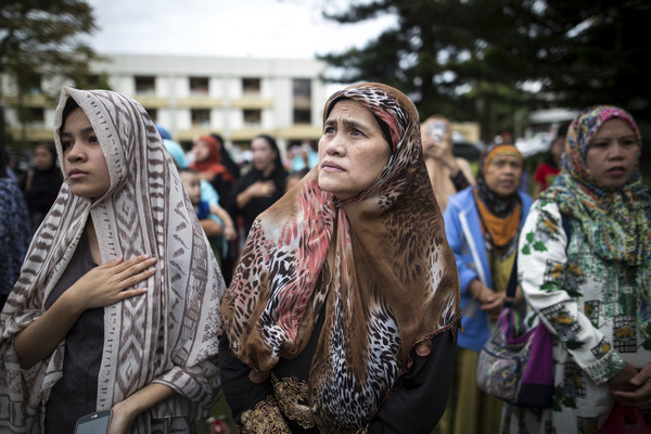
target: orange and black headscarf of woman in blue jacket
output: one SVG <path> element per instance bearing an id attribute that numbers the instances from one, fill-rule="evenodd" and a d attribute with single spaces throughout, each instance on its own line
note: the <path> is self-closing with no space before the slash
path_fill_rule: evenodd
<path id="1" fill-rule="evenodd" d="M 486 207 L 497 217 L 507 217 L 513 210 L 515 204 L 520 202 L 520 196 L 518 195 L 518 191 L 514 191 L 508 197 L 502 197 L 499 194 L 495 193 L 493 190 L 488 188 L 486 184 L 486 178 L 484 173 L 486 171 L 486 166 L 498 155 L 515 155 L 522 161 L 524 165 L 524 159 L 520 154 L 520 151 L 512 144 L 493 144 L 488 146 L 483 153 L 482 158 L 480 158 L 478 164 L 478 174 L 477 174 L 477 194 L 480 200 L 486 205 Z"/>

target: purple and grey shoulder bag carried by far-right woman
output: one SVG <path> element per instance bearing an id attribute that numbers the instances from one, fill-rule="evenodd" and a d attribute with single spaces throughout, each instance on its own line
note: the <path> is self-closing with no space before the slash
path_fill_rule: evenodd
<path id="1" fill-rule="evenodd" d="M 480 352 L 476 380 L 485 393 L 524 408 L 549 408 L 553 397 L 551 334 L 541 321 L 520 333 L 522 327 L 513 305 L 518 286 L 513 265 L 505 304 Z"/>

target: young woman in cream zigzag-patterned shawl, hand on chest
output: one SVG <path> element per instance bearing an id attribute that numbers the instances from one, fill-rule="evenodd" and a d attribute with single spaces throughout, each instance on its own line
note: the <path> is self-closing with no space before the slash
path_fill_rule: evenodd
<path id="1" fill-rule="evenodd" d="M 219 268 L 161 136 L 122 94 L 64 88 L 65 183 L 0 317 L 0 431 L 191 432 L 219 390 Z M 97 264 L 101 264 L 97 266 Z"/>

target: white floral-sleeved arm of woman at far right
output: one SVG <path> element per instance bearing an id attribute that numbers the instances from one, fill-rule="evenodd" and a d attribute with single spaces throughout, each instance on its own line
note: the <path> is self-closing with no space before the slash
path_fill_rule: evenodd
<path id="1" fill-rule="evenodd" d="M 527 304 L 565 347 L 574 361 L 596 383 L 614 378 L 626 366 L 614 345 L 586 316 L 576 297 L 578 288 L 569 285 L 569 240 L 554 203 L 532 206 L 520 235 L 519 280 Z M 595 353 L 598 348 L 599 353 Z"/>

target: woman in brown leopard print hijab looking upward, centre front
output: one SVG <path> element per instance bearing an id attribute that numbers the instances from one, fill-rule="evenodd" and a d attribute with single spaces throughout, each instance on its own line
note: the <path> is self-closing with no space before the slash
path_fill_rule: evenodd
<path id="1" fill-rule="evenodd" d="M 256 220 L 221 304 L 226 397 L 243 433 L 429 433 L 460 312 L 418 113 L 361 84 L 323 120 L 319 164 Z"/>

